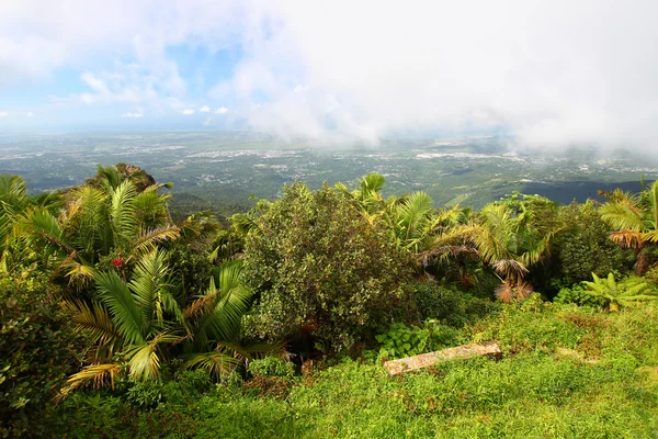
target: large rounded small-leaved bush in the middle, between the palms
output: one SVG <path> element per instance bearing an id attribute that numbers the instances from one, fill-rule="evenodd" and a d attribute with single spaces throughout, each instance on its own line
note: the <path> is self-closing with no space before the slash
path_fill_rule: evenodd
<path id="1" fill-rule="evenodd" d="M 243 277 L 260 296 L 257 337 L 285 338 L 306 326 L 325 352 L 351 348 L 405 296 L 408 257 L 343 192 L 294 183 L 258 224 Z"/>

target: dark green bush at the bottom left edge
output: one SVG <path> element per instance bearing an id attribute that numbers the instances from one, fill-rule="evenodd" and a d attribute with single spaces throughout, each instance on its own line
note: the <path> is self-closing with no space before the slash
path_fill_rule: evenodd
<path id="1" fill-rule="evenodd" d="M 31 435 L 82 348 L 46 279 L 0 280 L 0 437 Z"/>

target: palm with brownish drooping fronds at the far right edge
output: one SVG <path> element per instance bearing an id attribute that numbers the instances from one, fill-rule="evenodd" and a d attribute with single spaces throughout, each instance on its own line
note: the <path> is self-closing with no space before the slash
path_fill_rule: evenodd
<path id="1" fill-rule="evenodd" d="M 658 243 L 658 181 L 639 194 L 617 189 L 604 195 L 609 201 L 601 205 L 601 216 L 615 229 L 610 238 L 635 250 L 635 272 L 643 274 L 649 266 L 647 246 Z"/>

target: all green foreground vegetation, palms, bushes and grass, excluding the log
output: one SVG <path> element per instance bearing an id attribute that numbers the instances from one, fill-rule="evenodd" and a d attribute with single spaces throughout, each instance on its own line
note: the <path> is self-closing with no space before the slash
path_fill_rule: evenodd
<path id="1" fill-rule="evenodd" d="M 658 183 L 475 211 L 371 173 L 228 226 L 174 221 L 169 187 L 0 178 L 0 436 L 658 434 Z M 500 359 L 381 364 L 492 340 Z"/>

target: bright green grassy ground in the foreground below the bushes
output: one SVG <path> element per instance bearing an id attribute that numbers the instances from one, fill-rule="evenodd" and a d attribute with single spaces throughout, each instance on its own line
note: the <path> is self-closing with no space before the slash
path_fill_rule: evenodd
<path id="1" fill-rule="evenodd" d="M 657 308 L 604 314 L 530 300 L 463 330 L 473 340 L 499 340 L 503 358 L 438 364 L 397 378 L 379 364 L 344 359 L 295 378 L 290 393 L 279 397 L 218 385 L 139 412 L 116 398 L 89 408 L 91 396 L 78 396 L 76 409 L 67 403 L 57 415 L 88 419 L 76 431 L 69 425 L 68 437 L 658 436 Z M 94 424 L 101 418 L 94 410 L 109 409 L 127 421 L 111 429 Z"/>

